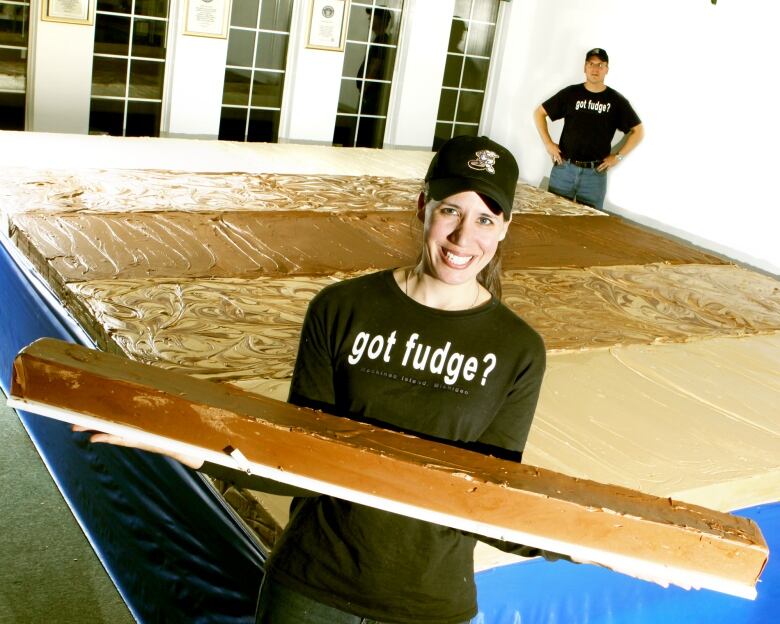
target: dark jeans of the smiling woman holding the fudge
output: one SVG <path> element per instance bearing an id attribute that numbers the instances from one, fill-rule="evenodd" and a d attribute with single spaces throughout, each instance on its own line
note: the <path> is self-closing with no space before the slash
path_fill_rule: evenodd
<path id="1" fill-rule="evenodd" d="M 307 598 L 266 577 L 257 602 L 256 624 L 382 624 Z M 468 624 L 463 622 L 463 624 Z"/>

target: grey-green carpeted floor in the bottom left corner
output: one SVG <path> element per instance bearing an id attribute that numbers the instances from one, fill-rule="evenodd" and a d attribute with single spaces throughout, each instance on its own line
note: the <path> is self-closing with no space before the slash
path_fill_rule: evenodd
<path id="1" fill-rule="evenodd" d="M 0 394 L 0 622 L 124 624 L 125 603 Z"/>

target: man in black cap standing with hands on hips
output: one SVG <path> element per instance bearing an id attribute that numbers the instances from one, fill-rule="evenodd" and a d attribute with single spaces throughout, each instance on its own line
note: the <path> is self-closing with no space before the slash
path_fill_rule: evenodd
<path id="1" fill-rule="evenodd" d="M 639 116 L 628 100 L 604 84 L 609 56 L 602 48 L 585 55 L 585 82 L 561 89 L 534 111 L 534 122 L 553 160 L 549 190 L 581 204 L 601 208 L 607 171 L 628 156 L 644 137 Z M 550 138 L 547 117 L 563 119 L 560 144 Z M 614 154 L 615 131 L 626 135 Z"/>

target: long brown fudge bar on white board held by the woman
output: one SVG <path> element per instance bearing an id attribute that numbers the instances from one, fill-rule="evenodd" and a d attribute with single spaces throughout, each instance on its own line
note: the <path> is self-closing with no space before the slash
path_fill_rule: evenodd
<path id="1" fill-rule="evenodd" d="M 662 585 L 752 599 L 768 558 L 760 529 L 747 518 L 298 408 L 50 338 L 17 355 L 8 404 Z"/>

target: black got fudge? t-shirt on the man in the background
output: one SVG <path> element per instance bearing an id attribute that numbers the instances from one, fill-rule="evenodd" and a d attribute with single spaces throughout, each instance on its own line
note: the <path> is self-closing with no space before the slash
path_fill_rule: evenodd
<path id="1" fill-rule="evenodd" d="M 551 120 L 564 120 L 558 145 L 571 160 L 603 160 L 610 153 L 615 130 L 626 133 L 641 123 L 628 100 L 611 87 L 592 93 L 583 84 L 571 85 L 542 106 Z"/>

